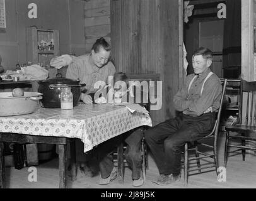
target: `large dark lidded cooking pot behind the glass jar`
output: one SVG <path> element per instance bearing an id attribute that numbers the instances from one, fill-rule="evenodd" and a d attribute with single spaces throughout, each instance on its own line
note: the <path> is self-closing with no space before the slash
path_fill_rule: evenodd
<path id="1" fill-rule="evenodd" d="M 77 106 L 81 95 L 81 85 L 79 83 L 79 80 L 71 80 L 64 77 L 54 77 L 38 82 L 38 92 L 44 94 L 43 99 L 40 100 L 42 106 L 61 108 L 61 89 L 63 87 L 71 87 L 73 106 Z"/>

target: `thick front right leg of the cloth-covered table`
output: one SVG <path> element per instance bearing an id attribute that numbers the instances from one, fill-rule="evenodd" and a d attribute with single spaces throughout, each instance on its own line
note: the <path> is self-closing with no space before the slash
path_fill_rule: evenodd
<path id="1" fill-rule="evenodd" d="M 59 144 L 59 188 L 66 188 L 67 145 Z"/>

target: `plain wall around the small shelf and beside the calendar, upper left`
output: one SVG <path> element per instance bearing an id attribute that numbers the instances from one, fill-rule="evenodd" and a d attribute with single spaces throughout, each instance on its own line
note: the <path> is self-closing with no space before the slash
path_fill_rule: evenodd
<path id="1" fill-rule="evenodd" d="M 37 4 L 37 19 L 28 18 L 28 4 Z M 0 33 L 0 55 L 5 70 L 26 63 L 26 27 L 59 30 L 60 53 L 83 55 L 84 2 L 80 0 L 7 0 L 6 32 Z"/>

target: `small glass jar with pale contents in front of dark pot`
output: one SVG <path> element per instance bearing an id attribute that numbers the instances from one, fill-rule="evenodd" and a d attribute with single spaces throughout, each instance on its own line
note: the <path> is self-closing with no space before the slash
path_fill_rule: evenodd
<path id="1" fill-rule="evenodd" d="M 73 109 L 73 94 L 71 87 L 61 89 L 61 109 Z"/>

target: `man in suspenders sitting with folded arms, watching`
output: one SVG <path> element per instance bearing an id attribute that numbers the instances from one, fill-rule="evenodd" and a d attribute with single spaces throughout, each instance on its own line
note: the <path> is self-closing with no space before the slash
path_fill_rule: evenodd
<path id="1" fill-rule="evenodd" d="M 158 166 L 160 176 L 154 183 L 168 185 L 180 179 L 181 153 L 186 142 L 193 142 L 209 134 L 214 128 L 219 109 L 222 86 L 211 72 L 212 52 L 199 48 L 192 57 L 194 73 L 173 97 L 180 114 L 174 119 L 148 129 L 146 143 Z"/>

